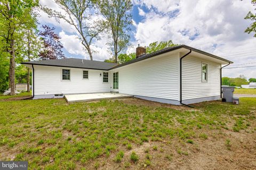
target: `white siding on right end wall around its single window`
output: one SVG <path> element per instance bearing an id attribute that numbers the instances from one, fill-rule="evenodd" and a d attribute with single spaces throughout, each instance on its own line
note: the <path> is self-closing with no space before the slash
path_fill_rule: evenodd
<path id="1" fill-rule="evenodd" d="M 202 63 L 207 64 L 207 81 L 202 81 Z M 182 59 L 182 100 L 220 95 L 220 64 L 195 56 Z"/>

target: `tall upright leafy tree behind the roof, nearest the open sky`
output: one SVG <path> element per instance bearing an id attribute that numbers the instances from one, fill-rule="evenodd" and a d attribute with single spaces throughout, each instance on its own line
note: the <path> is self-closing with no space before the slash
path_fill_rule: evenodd
<path id="1" fill-rule="evenodd" d="M 112 39 L 108 43 L 111 54 L 117 63 L 118 54 L 124 52 L 129 46 L 132 24 L 131 0 L 98 0 L 97 7 L 107 21 L 107 32 Z"/>

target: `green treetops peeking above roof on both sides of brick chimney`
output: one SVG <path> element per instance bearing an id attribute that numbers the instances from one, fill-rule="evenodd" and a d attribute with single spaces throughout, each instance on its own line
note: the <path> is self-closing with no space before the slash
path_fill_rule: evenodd
<path id="1" fill-rule="evenodd" d="M 161 41 L 160 43 L 158 43 L 157 41 L 154 42 L 154 43 L 150 43 L 149 46 L 145 47 L 146 48 L 146 52 L 147 54 L 150 54 L 150 53 L 154 53 L 158 50 L 161 50 L 161 49 L 164 49 L 164 48 L 167 48 L 167 47 L 173 47 L 175 46 L 176 44 L 173 44 L 172 43 L 172 40 L 169 40 L 169 41 Z M 136 58 L 136 54 L 135 53 L 130 53 L 130 54 L 119 54 L 118 55 L 118 60 L 117 62 L 119 64 L 122 64 L 122 63 L 126 63 L 126 62 L 129 62 L 130 60 L 133 60 L 134 58 Z M 108 62 L 108 63 L 115 63 L 115 58 L 109 58 L 108 60 L 105 60 L 105 62 Z"/>

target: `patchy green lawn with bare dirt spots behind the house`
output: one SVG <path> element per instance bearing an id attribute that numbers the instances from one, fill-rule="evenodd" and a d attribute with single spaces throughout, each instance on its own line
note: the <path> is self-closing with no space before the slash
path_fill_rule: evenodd
<path id="1" fill-rule="evenodd" d="M 253 169 L 255 103 L 0 101 L 0 160 L 28 160 L 29 169 Z"/>

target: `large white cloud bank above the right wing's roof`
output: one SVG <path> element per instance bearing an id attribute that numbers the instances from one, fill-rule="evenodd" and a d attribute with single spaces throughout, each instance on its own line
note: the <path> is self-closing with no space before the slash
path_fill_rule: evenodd
<path id="1" fill-rule="evenodd" d="M 177 2 L 170 1 L 170 8 L 158 1 L 157 4 L 156 1 L 134 2 L 143 2 L 149 9 L 157 8 L 157 11 L 150 10 L 137 25 L 135 39 L 143 46 L 171 39 L 176 44 L 190 45 L 221 56 L 230 50 L 238 53 L 256 46 L 256 39 L 244 33 L 250 23 L 244 17 L 248 11 L 253 10 L 250 1 L 181 0 L 178 6 Z M 172 10 L 179 12 L 174 16 Z M 236 64 L 255 61 L 255 57 L 250 59 L 250 56 L 228 59 Z M 241 73 L 247 74 L 246 77 L 255 77 L 255 67 L 223 71 L 223 75 L 230 77 L 237 77 Z"/>

